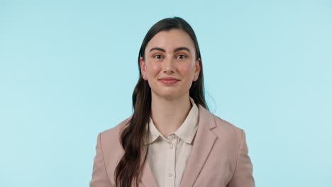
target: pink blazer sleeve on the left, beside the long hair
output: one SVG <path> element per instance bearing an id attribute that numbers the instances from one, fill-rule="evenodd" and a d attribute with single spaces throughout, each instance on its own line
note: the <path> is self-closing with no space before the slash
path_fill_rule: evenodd
<path id="1" fill-rule="evenodd" d="M 92 179 L 90 187 L 113 187 L 107 175 L 104 162 L 103 149 L 101 146 L 101 133 L 99 133 L 96 142 L 96 155 L 94 157 L 94 166 L 92 169 Z"/>

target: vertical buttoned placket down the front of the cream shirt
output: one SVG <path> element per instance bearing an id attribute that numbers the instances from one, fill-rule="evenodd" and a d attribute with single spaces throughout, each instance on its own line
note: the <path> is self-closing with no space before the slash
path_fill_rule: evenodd
<path id="1" fill-rule="evenodd" d="M 175 187 L 175 147 L 177 145 L 177 139 L 175 134 L 171 134 L 168 137 L 167 142 L 167 165 L 166 165 L 166 186 Z"/>

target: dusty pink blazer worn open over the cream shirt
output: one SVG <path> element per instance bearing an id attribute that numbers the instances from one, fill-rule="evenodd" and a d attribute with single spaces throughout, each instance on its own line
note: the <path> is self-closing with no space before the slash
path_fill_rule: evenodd
<path id="1" fill-rule="evenodd" d="M 253 165 L 245 132 L 199 106 L 199 127 L 181 187 L 253 187 Z M 123 154 L 119 132 L 131 117 L 99 133 L 90 187 L 115 187 L 114 170 Z M 148 161 L 140 187 L 157 187 Z"/>

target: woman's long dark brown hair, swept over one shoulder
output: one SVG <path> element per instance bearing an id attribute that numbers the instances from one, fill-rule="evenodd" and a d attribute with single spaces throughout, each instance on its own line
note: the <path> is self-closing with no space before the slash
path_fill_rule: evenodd
<path id="1" fill-rule="evenodd" d="M 196 35 L 189 23 L 179 17 L 165 18 L 155 23 L 155 25 L 153 25 L 145 35 L 138 54 L 139 72 L 140 57 L 143 57 L 144 60 L 144 51 L 146 45 L 148 45 L 148 42 L 160 31 L 170 30 L 173 28 L 184 30 L 184 32 L 188 33 L 194 41 L 196 48 L 196 60 L 201 58 L 201 52 L 199 51 Z M 203 66 L 201 61 L 199 62 L 199 65 L 201 67 L 199 78 L 197 81 L 192 82 L 192 86 L 189 90 L 189 96 L 194 99 L 195 103 L 208 109 L 204 97 Z M 148 148 L 146 148 L 145 156 L 142 158 L 141 153 L 144 151 L 144 138 L 148 137 L 148 134 L 145 132 L 147 132 L 146 128 L 148 128 L 147 123 L 149 121 L 150 108 L 151 89 L 148 81 L 145 81 L 142 78 L 142 74 L 140 72 L 138 83 L 133 91 L 133 115 L 126 127 L 123 128 L 120 135 L 120 142 L 125 152 L 118 162 L 118 166 L 116 166 L 116 171 L 114 172 L 116 186 L 118 187 L 131 187 L 134 179 L 135 186 L 138 186 L 140 174 L 148 153 Z"/>

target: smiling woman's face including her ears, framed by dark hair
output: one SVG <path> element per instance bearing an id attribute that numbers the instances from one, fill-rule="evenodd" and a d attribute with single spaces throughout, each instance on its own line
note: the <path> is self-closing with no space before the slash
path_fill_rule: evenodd
<path id="1" fill-rule="evenodd" d="M 178 98 L 187 94 L 200 72 L 192 38 L 179 29 L 157 33 L 145 47 L 145 60 L 140 57 L 140 70 L 153 95 Z M 170 80 L 176 79 L 176 80 Z"/>

